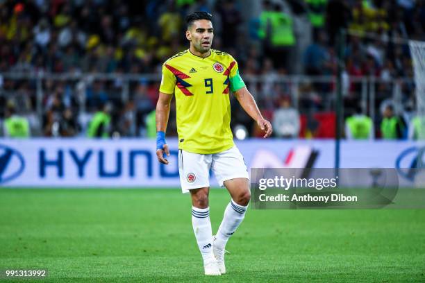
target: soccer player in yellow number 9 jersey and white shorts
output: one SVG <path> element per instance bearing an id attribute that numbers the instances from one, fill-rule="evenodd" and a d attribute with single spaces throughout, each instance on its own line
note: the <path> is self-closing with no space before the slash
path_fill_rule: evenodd
<path id="1" fill-rule="evenodd" d="M 192 198 L 192 225 L 203 258 L 206 275 L 226 273 L 224 248 L 244 219 L 249 199 L 249 173 L 233 143 L 230 128 L 233 92 L 242 108 L 264 131 L 272 126 L 263 118 L 256 101 L 239 75 L 238 63 L 228 53 L 211 49 L 214 30 L 212 15 L 194 12 L 186 17 L 186 38 L 190 48 L 169 58 L 163 65 L 163 78 L 156 105 L 156 155 L 168 164 L 169 148 L 165 130 L 170 101 L 176 96 L 178 130 L 178 171 L 183 193 Z M 209 171 L 231 195 L 219 230 L 213 237 L 208 194 Z"/>

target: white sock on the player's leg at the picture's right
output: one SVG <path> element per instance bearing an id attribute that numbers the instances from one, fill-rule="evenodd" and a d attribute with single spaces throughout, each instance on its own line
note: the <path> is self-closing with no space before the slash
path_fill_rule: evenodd
<path id="1" fill-rule="evenodd" d="M 226 210 L 224 210 L 222 224 L 220 224 L 217 235 L 215 235 L 214 245 L 217 246 L 217 248 L 224 250 L 228 238 L 233 235 L 240 223 L 242 223 L 242 220 L 244 220 L 247 208 L 248 205 L 238 205 L 238 203 L 235 203 L 233 200 L 228 203 Z"/>

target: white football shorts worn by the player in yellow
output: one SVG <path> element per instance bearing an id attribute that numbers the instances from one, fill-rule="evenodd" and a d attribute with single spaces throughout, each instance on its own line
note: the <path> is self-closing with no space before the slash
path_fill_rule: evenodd
<path id="1" fill-rule="evenodd" d="M 190 189 L 210 187 L 210 169 L 220 187 L 226 180 L 247 178 L 249 173 L 244 157 L 236 146 L 214 154 L 189 153 L 178 150 L 178 173 L 183 194 Z"/>

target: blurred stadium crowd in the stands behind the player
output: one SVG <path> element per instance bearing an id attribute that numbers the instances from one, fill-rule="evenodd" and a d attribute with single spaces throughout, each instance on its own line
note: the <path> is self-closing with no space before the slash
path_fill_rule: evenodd
<path id="1" fill-rule="evenodd" d="M 346 137 L 358 134 L 350 132 L 356 127 L 349 118 L 370 107 L 361 105 L 362 85 L 352 79 L 365 76 L 376 78 L 377 114 L 367 117 L 372 118 L 365 122 L 372 123 L 366 127 L 367 137 L 408 136 L 415 108 L 412 80 L 399 81 L 398 104 L 389 98 L 394 80 L 412 77 L 408 45 L 399 39 L 425 40 L 425 3 L 415 0 L 265 0 L 261 12 L 251 17 L 243 1 L 236 0 L 0 1 L 3 132 L 11 135 L 11 119 L 19 116 L 26 117 L 19 120 L 22 125 L 29 125 L 21 128 L 35 136 L 153 136 L 160 67 L 187 49 L 184 16 L 195 10 L 213 13 L 214 48 L 238 60 L 259 107 L 274 121 L 276 136 L 335 136 L 334 80 L 300 81 L 294 101 L 294 82 L 281 78 L 336 75 L 340 28 L 347 31 L 342 45 Z M 35 78 L 2 73 L 74 74 L 76 79 L 47 76 L 38 85 Z M 97 73 L 115 76 L 90 77 Z M 126 86 L 120 74 L 141 76 Z M 158 79 L 144 74 L 158 74 Z M 254 76 L 260 80 L 249 80 Z M 233 126 L 244 126 L 250 136 L 260 135 L 234 104 Z M 398 126 L 387 126 L 388 117 Z M 385 133 L 385 126 L 392 132 Z M 173 134 L 172 123 L 167 135 Z"/>

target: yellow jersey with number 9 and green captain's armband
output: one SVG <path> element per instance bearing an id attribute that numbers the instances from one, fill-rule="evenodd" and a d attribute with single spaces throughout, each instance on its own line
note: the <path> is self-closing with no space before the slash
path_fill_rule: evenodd
<path id="1" fill-rule="evenodd" d="M 244 86 L 238 62 L 222 51 L 201 58 L 185 50 L 165 61 L 160 92 L 176 96 L 178 148 L 212 154 L 233 147 L 228 95 Z"/>

